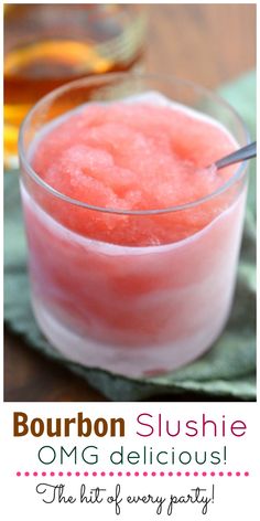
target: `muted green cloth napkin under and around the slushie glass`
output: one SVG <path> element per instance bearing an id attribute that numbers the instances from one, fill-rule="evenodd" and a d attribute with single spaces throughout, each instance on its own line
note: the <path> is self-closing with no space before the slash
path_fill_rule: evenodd
<path id="1" fill-rule="evenodd" d="M 226 85 L 220 94 L 256 134 L 256 73 Z M 15 172 L 4 176 L 4 318 L 29 345 L 59 361 L 113 401 L 138 401 L 166 394 L 172 400 L 256 400 L 256 163 L 250 188 L 235 304 L 225 332 L 197 361 L 167 375 L 128 379 L 65 360 L 42 336 L 30 305 L 26 246 Z"/>

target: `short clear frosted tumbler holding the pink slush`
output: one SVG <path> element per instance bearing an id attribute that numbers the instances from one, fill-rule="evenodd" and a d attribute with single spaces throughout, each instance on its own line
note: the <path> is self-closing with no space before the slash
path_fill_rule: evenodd
<path id="1" fill-rule="evenodd" d="M 127 211 L 58 192 L 34 171 L 31 150 L 46 125 L 68 111 L 154 91 L 214 118 L 238 146 L 249 141 L 240 117 L 215 94 L 172 76 L 118 73 L 73 82 L 45 96 L 26 116 L 19 145 L 36 321 L 66 358 L 131 376 L 177 369 L 221 333 L 236 281 L 246 164 L 236 166 L 220 188 L 191 203 Z M 201 226 L 197 211 L 207 215 L 213 205 L 214 217 Z M 195 223 L 188 235 L 182 225 L 186 220 Z M 97 225 L 86 233 L 84 223 L 89 221 Z M 165 227 L 165 236 L 151 244 L 151 230 L 158 225 Z M 115 230 L 111 242 L 104 236 L 107 226 Z M 132 241 L 137 230 L 140 244 Z"/>

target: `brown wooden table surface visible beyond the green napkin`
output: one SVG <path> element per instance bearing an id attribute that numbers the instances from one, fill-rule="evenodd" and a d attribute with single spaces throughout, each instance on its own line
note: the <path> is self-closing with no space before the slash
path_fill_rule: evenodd
<path id="1" fill-rule="evenodd" d="M 254 4 L 150 4 L 147 10 L 149 71 L 173 73 L 215 88 L 256 66 Z M 10 331 L 4 336 L 4 400 L 106 401 L 80 378 L 34 352 Z"/>

